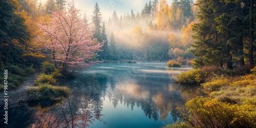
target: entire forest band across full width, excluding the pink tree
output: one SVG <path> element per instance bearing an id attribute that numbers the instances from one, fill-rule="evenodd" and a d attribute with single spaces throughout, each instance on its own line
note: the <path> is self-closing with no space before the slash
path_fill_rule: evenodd
<path id="1" fill-rule="evenodd" d="M 19 63 L 24 68 L 43 60 L 57 60 L 54 49 L 49 51 L 50 47 L 44 44 L 47 41 L 42 39 L 44 34 L 38 23 L 51 22 L 54 12 L 68 10 L 67 1 L 4 0 L 1 5 L 1 67 Z M 176 0 L 168 5 L 165 0 L 154 0 L 145 3 L 141 12 L 114 11 L 108 22 L 103 20 L 107 16 L 101 14 L 104 10 L 100 6 L 95 3 L 91 17 L 78 16 L 92 32 L 91 40 L 95 44 L 104 42 L 95 52 L 98 55 L 84 60 L 87 63 L 181 61 L 194 57 L 196 67 L 216 65 L 232 69 L 255 63 L 254 1 Z M 64 66 L 62 62 L 58 61 L 58 67 Z"/>

